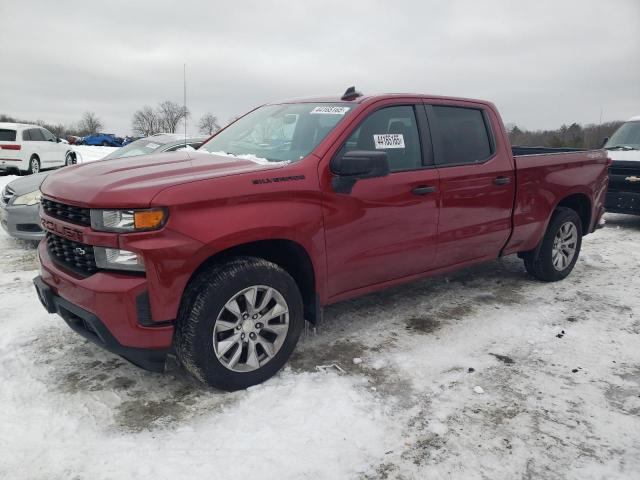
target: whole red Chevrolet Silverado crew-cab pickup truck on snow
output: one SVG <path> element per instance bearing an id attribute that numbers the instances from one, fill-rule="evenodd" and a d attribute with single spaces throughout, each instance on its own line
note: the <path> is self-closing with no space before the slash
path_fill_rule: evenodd
<path id="1" fill-rule="evenodd" d="M 233 390 L 275 374 L 325 305 L 518 254 L 566 277 L 603 213 L 603 151 L 514 156 L 488 102 L 264 105 L 198 151 L 43 183 L 45 308 L 143 368 Z"/>

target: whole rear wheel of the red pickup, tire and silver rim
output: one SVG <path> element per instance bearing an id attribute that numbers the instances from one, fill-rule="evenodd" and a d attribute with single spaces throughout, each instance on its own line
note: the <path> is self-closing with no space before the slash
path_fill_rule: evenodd
<path id="1" fill-rule="evenodd" d="M 573 270 L 581 247 L 580 216 L 575 210 L 559 207 L 551 217 L 537 255 L 530 252 L 524 254 L 524 266 L 539 280 L 562 280 Z"/>

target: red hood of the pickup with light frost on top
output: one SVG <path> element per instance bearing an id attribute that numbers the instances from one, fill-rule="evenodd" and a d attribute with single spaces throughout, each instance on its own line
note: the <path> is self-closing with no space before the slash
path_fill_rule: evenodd
<path id="1" fill-rule="evenodd" d="M 201 152 L 159 153 L 65 167 L 49 175 L 41 190 L 48 197 L 79 206 L 146 207 L 170 186 L 283 165 Z"/>

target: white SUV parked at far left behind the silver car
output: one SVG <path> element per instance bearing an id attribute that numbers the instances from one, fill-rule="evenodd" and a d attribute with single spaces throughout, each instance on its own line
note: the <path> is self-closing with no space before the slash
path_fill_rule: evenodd
<path id="1" fill-rule="evenodd" d="M 46 128 L 0 122 L 0 171 L 38 173 L 74 163 L 76 154 L 69 144 Z"/>

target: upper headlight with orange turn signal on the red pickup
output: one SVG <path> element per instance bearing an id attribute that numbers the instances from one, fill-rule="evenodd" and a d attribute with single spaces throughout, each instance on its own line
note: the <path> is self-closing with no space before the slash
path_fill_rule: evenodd
<path id="1" fill-rule="evenodd" d="M 91 210 L 91 228 L 100 232 L 158 230 L 167 222 L 165 208 L 144 210 Z"/>

